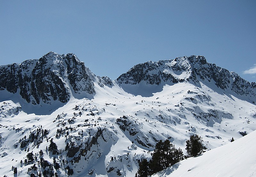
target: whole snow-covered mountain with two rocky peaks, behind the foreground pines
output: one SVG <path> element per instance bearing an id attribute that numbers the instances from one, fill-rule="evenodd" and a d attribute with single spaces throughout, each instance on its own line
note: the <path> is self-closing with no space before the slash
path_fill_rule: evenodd
<path id="1" fill-rule="evenodd" d="M 256 83 L 203 56 L 149 61 L 111 81 L 49 52 L 0 76 L 0 176 L 12 166 L 18 176 L 134 176 L 159 140 L 185 153 L 192 134 L 210 150 L 256 129 Z"/>

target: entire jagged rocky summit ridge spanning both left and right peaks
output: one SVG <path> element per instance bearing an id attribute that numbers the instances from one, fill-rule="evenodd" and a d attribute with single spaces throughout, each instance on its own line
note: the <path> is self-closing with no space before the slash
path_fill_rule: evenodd
<path id="1" fill-rule="evenodd" d="M 0 66 L 0 90 L 19 93 L 28 103 L 60 101 L 67 103 L 71 95 L 90 97 L 96 93 L 94 84 L 113 86 L 108 77 L 99 77 L 75 54 L 59 55 L 49 52 L 40 59 L 21 64 Z M 256 83 L 242 79 L 237 73 L 207 63 L 204 56 L 178 57 L 173 60 L 148 61 L 135 65 L 120 75 L 116 83 L 133 95 L 152 96 L 165 84 L 192 83 L 201 87 L 220 88 L 240 96 L 256 98 Z M 215 88 L 213 88 L 215 90 Z M 149 90 L 149 94 L 145 94 Z"/>

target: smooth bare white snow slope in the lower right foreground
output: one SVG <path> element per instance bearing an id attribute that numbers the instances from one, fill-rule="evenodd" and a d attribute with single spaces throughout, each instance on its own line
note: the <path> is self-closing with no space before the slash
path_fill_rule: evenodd
<path id="1" fill-rule="evenodd" d="M 256 131 L 232 143 L 180 161 L 152 177 L 256 176 Z"/>

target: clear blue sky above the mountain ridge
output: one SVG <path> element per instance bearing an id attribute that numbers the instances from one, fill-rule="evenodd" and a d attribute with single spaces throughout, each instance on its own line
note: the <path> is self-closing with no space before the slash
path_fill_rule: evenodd
<path id="1" fill-rule="evenodd" d="M 114 80 L 149 60 L 204 55 L 256 82 L 255 0 L 3 0 L 0 16 L 0 65 L 74 53 Z"/>

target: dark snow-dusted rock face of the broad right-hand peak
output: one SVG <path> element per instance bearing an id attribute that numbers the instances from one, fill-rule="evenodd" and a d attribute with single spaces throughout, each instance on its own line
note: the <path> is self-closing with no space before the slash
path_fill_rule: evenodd
<path id="1" fill-rule="evenodd" d="M 215 64 L 207 63 L 203 56 L 179 57 L 174 60 L 148 61 L 132 67 L 127 73 L 117 78 L 122 85 L 136 85 L 142 82 L 147 85 L 160 83 L 175 84 L 190 82 L 197 86 L 200 82 L 209 85 L 214 83 L 222 90 L 235 92 L 241 96 L 256 98 L 256 83 L 242 79 L 238 74 L 229 72 Z"/>

